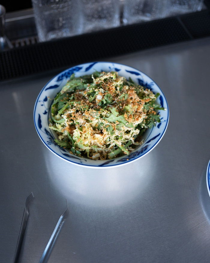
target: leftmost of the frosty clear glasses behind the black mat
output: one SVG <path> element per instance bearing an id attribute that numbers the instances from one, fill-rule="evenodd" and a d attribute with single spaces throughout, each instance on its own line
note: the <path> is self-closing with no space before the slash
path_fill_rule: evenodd
<path id="1" fill-rule="evenodd" d="M 77 0 L 32 0 L 39 41 L 78 35 L 82 31 Z"/>

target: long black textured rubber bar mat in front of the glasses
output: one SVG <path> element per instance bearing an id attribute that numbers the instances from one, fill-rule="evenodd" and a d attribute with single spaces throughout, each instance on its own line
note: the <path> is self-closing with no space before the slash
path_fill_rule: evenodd
<path id="1" fill-rule="evenodd" d="M 208 10 L 0 52 L 0 80 L 210 36 Z"/>

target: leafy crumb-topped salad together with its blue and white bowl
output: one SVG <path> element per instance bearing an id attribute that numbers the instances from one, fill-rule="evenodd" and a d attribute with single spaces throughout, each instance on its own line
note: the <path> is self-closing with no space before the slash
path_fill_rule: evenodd
<path id="1" fill-rule="evenodd" d="M 35 127 L 58 157 L 93 168 L 135 161 L 163 137 L 166 98 L 143 72 L 92 62 L 61 72 L 41 90 Z"/>

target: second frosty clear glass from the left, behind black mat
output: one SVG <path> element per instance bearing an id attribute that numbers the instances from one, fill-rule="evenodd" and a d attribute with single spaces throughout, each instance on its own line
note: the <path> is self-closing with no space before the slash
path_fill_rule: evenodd
<path id="1" fill-rule="evenodd" d="M 119 0 L 80 0 L 82 32 L 120 26 Z"/>

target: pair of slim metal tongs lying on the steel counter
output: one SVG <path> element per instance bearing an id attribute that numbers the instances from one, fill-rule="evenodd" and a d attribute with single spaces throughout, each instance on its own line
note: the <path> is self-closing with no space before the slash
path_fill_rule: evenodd
<path id="1" fill-rule="evenodd" d="M 25 234 L 25 231 L 26 231 L 26 225 L 27 225 L 27 222 L 28 222 L 28 217 L 29 217 L 29 203 L 30 201 L 34 198 L 34 195 L 33 193 L 31 192 L 31 194 L 29 194 L 26 198 L 26 201 L 25 201 L 25 209 L 24 209 L 24 213 L 23 213 L 23 218 L 22 218 L 22 223 L 21 223 L 21 227 L 20 227 L 20 233 L 19 233 L 19 237 L 18 237 L 18 242 L 17 242 L 17 246 L 16 246 L 16 252 L 15 252 L 15 257 L 14 257 L 14 263 L 17 263 L 18 260 L 19 260 L 19 256 L 20 256 L 20 252 L 21 252 L 21 247 L 22 247 L 22 242 L 23 242 L 23 239 L 24 239 L 24 234 Z M 67 215 L 69 213 L 69 210 L 68 210 L 68 204 L 67 204 L 67 199 L 66 199 L 66 209 L 65 211 L 62 213 L 62 215 L 60 216 L 53 232 L 52 232 L 52 235 L 46 245 L 46 248 L 43 252 L 43 255 L 39 261 L 39 263 L 45 263 L 48 261 L 48 258 L 49 258 L 49 255 L 50 255 L 50 252 L 52 251 L 52 247 L 53 247 L 53 244 L 55 242 L 55 239 L 58 235 L 58 232 L 61 228 L 61 225 L 62 223 L 64 222 L 64 220 L 66 219 Z"/>

